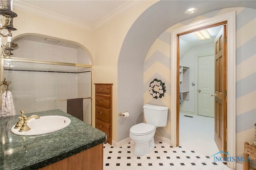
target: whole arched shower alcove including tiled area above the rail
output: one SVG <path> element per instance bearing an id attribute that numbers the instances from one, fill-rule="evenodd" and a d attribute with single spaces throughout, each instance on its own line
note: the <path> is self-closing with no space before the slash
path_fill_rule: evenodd
<path id="1" fill-rule="evenodd" d="M 92 123 L 92 65 L 88 53 L 67 41 L 44 35 L 25 35 L 14 40 L 18 49 L 10 59 L 1 58 L 1 81 L 12 82 L 16 114 L 61 109 L 67 100 L 83 99 L 83 120 Z M 80 64 L 75 64 L 80 63 Z M 88 64 L 87 64 L 88 63 Z M 5 91 L 1 86 L 1 92 Z"/>

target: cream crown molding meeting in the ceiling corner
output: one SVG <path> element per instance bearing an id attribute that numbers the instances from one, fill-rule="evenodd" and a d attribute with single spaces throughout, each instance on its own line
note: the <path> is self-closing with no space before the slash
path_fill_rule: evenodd
<path id="1" fill-rule="evenodd" d="M 26 12 L 30 12 L 32 14 L 36 14 L 36 15 L 39 15 L 39 16 L 42 16 L 45 18 L 49 18 L 52 20 L 56 20 L 56 21 L 59 21 L 62 23 L 66 23 L 69 25 L 73 25 L 75 27 L 79 27 L 79 28 L 94 32 L 97 29 L 99 29 L 99 28 L 103 27 L 104 25 L 110 23 L 111 21 L 115 20 L 116 18 L 122 16 L 126 12 L 132 10 L 139 4 L 142 4 L 145 1 L 146 0 L 129 0 L 128 2 L 126 2 L 125 4 L 123 4 L 122 6 L 120 6 L 119 8 L 117 8 L 116 10 L 114 10 L 113 12 L 111 12 L 110 14 L 105 16 L 104 18 L 102 18 L 100 21 L 98 21 L 94 25 L 88 25 L 81 21 L 77 21 L 72 18 L 68 18 L 66 16 L 62 16 L 60 14 L 56 14 L 54 12 L 51 12 L 51 11 L 48 11 L 48 10 L 45 10 L 45 9 L 42 9 L 42 8 L 39 8 L 36 6 L 32 6 L 30 4 L 26 4 L 19 0 L 15 0 L 15 2 L 13 3 L 13 8 L 16 8 L 18 10 L 23 10 Z"/>

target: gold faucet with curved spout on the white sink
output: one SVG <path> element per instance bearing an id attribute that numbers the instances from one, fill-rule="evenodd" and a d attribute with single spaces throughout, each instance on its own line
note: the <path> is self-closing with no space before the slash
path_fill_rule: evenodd
<path id="1" fill-rule="evenodd" d="M 29 131 L 30 127 L 28 127 L 28 125 L 27 125 L 28 121 L 30 119 L 32 119 L 32 118 L 35 118 L 35 119 L 39 119 L 40 118 L 40 116 L 38 116 L 38 115 L 32 115 L 32 116 L 27 118 L 27 116 L 24 115 L 24 111 L 23 110 L 20 110 L 20 113 L 21 113 L 21 117 L 18 117 L 19 121 L 18 121 L 18 123 L 14 127 L 16 129 L 20 128 L 19 132 Z"/>

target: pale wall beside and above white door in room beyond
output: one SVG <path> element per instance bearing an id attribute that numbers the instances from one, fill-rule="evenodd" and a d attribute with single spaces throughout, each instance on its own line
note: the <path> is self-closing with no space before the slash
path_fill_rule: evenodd
<path id="1" fill-rule="evenodd" d="M 197 101 L 195 100 L 195 88 L 198 85 L 197 82 L 195 82 L 196 57 L 209 54 L 214 54 L 214 43 L 192 47 L 188 53 L 181 56 L 180 65 L 189 67 L 189 100 L 182 101 L 180 111 L 188 111 L 188 113 L 197 115 L 197 113 L 194 113 L 195 104 L 197 105 Z M 195 86 L 192 86 L 192 82 L 195 83 Z"/>

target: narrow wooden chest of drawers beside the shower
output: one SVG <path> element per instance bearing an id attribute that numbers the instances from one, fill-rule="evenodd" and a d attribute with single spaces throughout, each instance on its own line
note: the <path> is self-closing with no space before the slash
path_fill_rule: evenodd
<path id="1" fill-rule="evenodd" d="M 95 84 L 95 127 L 107 134 L 107 143 L 112 145 L 112 85 Z"/>

